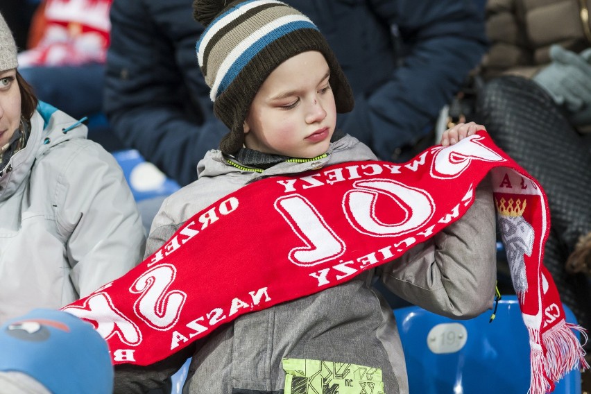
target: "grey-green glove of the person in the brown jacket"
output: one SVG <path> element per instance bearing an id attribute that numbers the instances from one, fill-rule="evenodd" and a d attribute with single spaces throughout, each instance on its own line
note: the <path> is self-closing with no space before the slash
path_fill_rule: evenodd
<path id="1" fill-rule="evenodd" d="M 591 106 L 591 49 L 580 54 L 552 45 L 548 67 L 542 69 L 533 80 L 544 88 L 557 105 L 571 114 L 589 110 Z"/>

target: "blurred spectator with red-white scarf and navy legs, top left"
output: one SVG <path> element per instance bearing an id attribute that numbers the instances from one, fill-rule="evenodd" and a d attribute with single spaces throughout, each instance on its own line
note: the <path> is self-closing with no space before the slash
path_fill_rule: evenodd
<path id="1" fill-rule="evenodd" d="M 76 119 L 96 117 L 102 112 L 111 3 L 41 1 L 33 17 L 28 46 L 19 53 L 19 72 L 33 86 L 37 97 Z M 122 147 L 106 121 L 92 124 L 102 128 L 91 128 L 89 138 L 109 151 Z"/>

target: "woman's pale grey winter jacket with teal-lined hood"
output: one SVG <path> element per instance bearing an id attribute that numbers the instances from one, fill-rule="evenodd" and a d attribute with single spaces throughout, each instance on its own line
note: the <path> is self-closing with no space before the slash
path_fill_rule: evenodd
<path id="1" fill-rule="evenodd" d="M 123 171 L 76 123 L 40 103 L 26 146 L 0 169 L 0 323 L 67 305 L 142 259 Z"/>

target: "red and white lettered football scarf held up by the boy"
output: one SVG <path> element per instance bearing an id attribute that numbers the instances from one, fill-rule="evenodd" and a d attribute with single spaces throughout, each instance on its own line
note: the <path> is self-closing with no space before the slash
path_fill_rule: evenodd
<path id="1" fill-rule="evenodd" d="M 565 322 L 542 265 L 545 194 L 486 132 L 406 164 L 348 162 L 253 182 L 64 310 L 94 325 L 114 363 L 148 365 L 241 314 L 323 291 L 402 255 L 459 219 L 489 172 L 530 336 L 531 393 L 545 393 L 565 372 L 588 367 L 573 332 L 582 329 Z M 252 231 L 237 234 L 244 229 Z"/>

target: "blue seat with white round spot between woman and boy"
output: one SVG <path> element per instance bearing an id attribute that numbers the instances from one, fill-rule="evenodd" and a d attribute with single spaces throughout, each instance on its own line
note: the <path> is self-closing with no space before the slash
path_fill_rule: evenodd
<path id="1" fill-rule="evenodd" d="M 164 173 L 135 149 L 112 153 L 115 157 L 136 201 L 158 196 L 169 196 L 180 189 L 177 182 Z"/>

